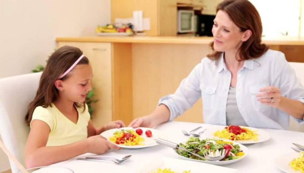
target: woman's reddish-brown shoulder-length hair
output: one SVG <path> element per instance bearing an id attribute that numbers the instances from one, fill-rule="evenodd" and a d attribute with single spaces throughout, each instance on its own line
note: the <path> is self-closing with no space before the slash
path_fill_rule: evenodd
<path id="1" fill-rule="evenodd" d="M 225 0 L 216 7 L 216 12 L 226 12 L 230 19 L 240 28 L 241 32 L 251 30 L 250 38 L 243 42 L 238 54 L 240 61 L 261 57 L 267 50 L 266 44 L 261 44 L 262 22 L 257 9 L 248 0 Z M 207 57 L 212 60 L 219 59 L 222 52 L 214 50 L 214 41 L 210 43 L 212 53 Z"/>

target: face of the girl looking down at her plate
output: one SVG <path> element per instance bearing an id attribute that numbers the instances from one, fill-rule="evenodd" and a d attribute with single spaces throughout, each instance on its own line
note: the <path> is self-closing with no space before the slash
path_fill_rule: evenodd
<path id="1" fill-rule="evenodd" d="M 62 81 L 64 90 L 62 96 L 72 102 L 84 102 L 86 95 L 92 89 L 92 67 L 89 64 L 76 65 L 68 74 L 67 80 Z"/>

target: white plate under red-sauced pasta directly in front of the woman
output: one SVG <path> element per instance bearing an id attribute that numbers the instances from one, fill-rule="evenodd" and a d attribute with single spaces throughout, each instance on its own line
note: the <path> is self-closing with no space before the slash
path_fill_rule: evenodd
<path id="1" fill-rule="evenodd" d="M 223 130 L 225 127 L 226 126 L 211 127 L 211 128 L 208 128 L 203 134 L 204 134 L 204 136 L 206 136 L 208 138 L 222 139 L 222 140 L 237 142 L 239 144 L 255 144 L 255 143 L 264 142 L 264 141 L 270 139 L 270 134 L 268 132 L 261 130 L 261 129 L 245 127 L 245 126 L 240 126 L 240 127 L 250 129 L 252 131 L 255 131 L 258 134 L 257 141 L 254 141 L 254 140 L 235 140 L 235 141 L 233 141 L 233 140 L 229 140 L 229 139 L 225 139 L 225 138 L 219 138 L 219 137 L 213 135 L 214 132 L 216 132 L 217 130 Z"/>

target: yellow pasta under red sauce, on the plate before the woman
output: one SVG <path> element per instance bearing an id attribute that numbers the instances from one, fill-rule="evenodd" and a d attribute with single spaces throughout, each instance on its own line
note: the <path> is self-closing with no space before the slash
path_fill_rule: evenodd
<path id="1" fill-rule="evenodd" d="M 228 129 L 223 129 L 223 130 L 217 130 L 214 133 L 214 136 L 220 137 L 220 138 L 225 138 L 225 139 L 230 139 L 230 140 L 254 140 L 257 141 L 258 134 L 252 130 L 249 130 L 247 128 L 242 128 L 246 130 L 246 133 L 242 132 L 238 135 L 235 135 L 234 133 L 229 133 Z"/>

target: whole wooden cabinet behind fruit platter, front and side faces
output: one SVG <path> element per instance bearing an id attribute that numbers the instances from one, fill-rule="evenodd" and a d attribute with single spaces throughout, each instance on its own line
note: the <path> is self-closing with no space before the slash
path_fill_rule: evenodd
<path id="1" fill-rule="evenodd" d="M 176 36 L 176 0 L 111 0 L 111 22 L 116 18 L 133 18 L 136 10 L 143 11 L 143 18 L 150 18 L 147 36 Z"/>

